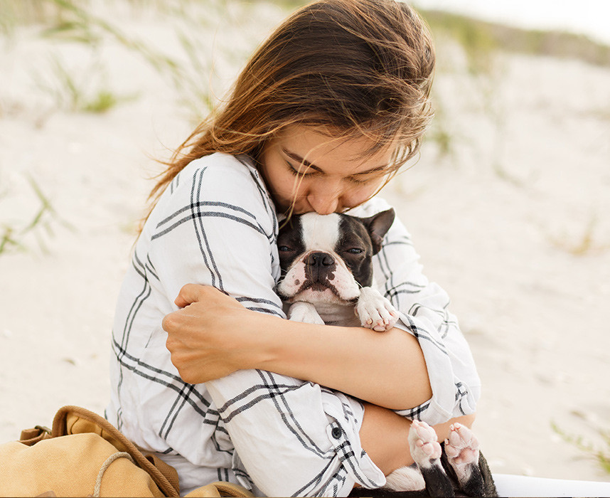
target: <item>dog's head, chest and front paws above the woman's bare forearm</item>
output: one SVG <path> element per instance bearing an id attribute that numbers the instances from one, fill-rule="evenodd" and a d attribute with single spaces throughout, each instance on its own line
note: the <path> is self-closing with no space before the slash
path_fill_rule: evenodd
<path id="1" fill-rule="evenodd" d="M 373 286 L 373 255 L 394 221 L 390 209 L 370 218 L 333 213 L 292 216 L 277 238 L 279 297 L 297 322 L 361 325 L 378 332 L 398 315 Z"/>

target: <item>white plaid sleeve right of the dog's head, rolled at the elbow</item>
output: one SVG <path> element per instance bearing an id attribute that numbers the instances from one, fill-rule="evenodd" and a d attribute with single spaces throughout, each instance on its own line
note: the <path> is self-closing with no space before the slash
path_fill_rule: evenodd
<path id="1" fill-rule="evenodd" d="M 376 198 L 353 214 L 373 216 L 387 208 L 385 201 Z M 410 233 L 399 219 L 375 256 L 374 275 L 375 285 L 398 311 L 396 327 L 417 337 L 432 386 L 429 401 L 397 413 L 431 425 L 474 413 L 481 381 L 470 347 L 458 320 L 449 312 L 449 296 L 423 274 Z"/>

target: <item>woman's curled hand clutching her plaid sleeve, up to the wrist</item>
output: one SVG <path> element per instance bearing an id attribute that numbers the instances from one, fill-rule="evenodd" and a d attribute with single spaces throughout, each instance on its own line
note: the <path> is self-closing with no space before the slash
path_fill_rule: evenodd
<path id="1" fill-rule="evenodd" d="M 185 285 L 174 302 L 181 309 L 168 314 L 162 327 L 168 334 L 171 362 L 183 381 L 202 383 L 253 368 L 248 364 L 253 334 L 247 332 L 247 324 L 255 312 L 204 285 Z"/>

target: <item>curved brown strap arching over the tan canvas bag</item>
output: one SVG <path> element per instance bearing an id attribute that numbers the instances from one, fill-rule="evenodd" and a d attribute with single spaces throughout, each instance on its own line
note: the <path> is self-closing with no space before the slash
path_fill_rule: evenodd
<path id="1" fill-rule="evenodd" d="M 91 430 L 90 428 L 79 431 L 77 427 L 79 419 L 93 423 L 97 426 L 99 432 L 97 432 L 97 430 Z M 73 430 L 75 430 L 75 432 L 73 432 Z M 137 465 L 149 473 L 155 484 L 161 489 L 161 492 L 163 492 L 166 497 L 180 496 L 178 472 L 176 472 L 176 469 L 167 465 L 165 462 L 163 462 L 163 465 L 157 466 L 156 464 L 161 461 L 158 457 L 155 458 L 154 455 L 150 455 L 152 458 L 149 460 L 142 455 L 141 451 L 134 443 L 120 433 L 114 425 L 108 422 L 108 420 L 97 415 L 97 413 L 93 413 L 86 408 L 80 408 L 79 406 L 64 406 L 63 408 L 60 408 L 53 419 L 53 429 L 50 431 L 50 437 L 58 438 L 63 435 L 79 432 L 96 432 L 102 436 L 102 438 L 117 447 L 117 450 L 129 453 Z"/>

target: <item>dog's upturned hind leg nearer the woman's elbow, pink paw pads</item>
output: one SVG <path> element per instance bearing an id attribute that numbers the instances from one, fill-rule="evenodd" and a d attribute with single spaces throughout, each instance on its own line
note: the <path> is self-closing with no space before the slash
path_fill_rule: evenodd
<path id="1" fill-rule="evenodd" d="M 453 497 L 454 489 L 442 466 L 442 447 L 434 429 L 425 422 L 413 420 L 409 430 L 409 446 L 430 496 Z"/>

